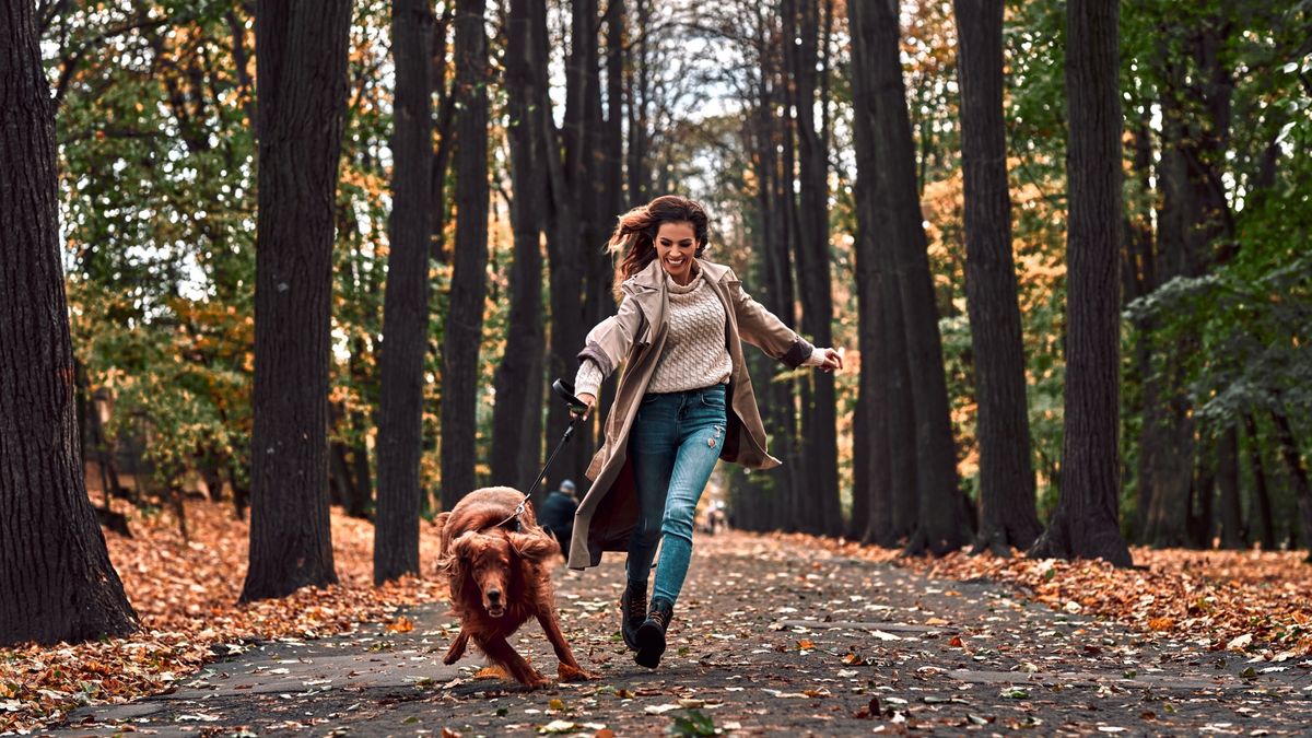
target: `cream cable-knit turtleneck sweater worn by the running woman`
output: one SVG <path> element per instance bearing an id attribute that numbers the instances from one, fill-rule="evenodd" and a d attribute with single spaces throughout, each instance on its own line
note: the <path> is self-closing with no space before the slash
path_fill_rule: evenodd
<path id="1" fill-rule="evenodd" d="M 724 336 L 724 305 L 715 292 L 706 288 L 701 272 L 687 285 L 665 276 L 669 309 L 665 311 L 668 332 L 656 370 L 647 385 L 648 393 L 678 393 L 720 385 L 729 381 L 733 362 Z M 705 289 L 703 289 L 705 288 Z M 819 366 L 824 349 L 815 349 L 803 365 Z M 575 394 L 596 397 L 605 377 L 590 360 L 579 365 Z"/>

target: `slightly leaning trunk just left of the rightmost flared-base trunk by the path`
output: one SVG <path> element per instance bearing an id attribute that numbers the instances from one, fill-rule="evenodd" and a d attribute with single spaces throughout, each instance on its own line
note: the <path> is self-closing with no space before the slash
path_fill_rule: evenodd
<path id="1" fill-rule="evenodd" d="M 966 307 L 979 401 L 975 550 L 1008 555 L 1043 532 L 1034 503 L 1025 349 L 1002 122 L 1002 0 L 955 0 L 966 197 Z"/>

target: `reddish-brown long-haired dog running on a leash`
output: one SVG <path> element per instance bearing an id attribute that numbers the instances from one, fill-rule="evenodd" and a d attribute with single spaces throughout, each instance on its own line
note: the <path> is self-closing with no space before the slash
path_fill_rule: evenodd
<path id="1" fill-rule="evenodd" d="M 531 504 L 514 516 L 522 500 L 523 495 L 510 487 L 484 487 L 437 516 L 442 529 L 438 567 L 447 576 L 451 611 L 461 620 L 461 632 L 442 662 L 458 662 L 472 640 L 516 682 L 530 689 L 546 687 L 550 682 L 509 642 L 521 625 L 537 617 L 560 661 L 560 680 L 585 682 L 592 675 L 579 667 L 560 633 L 546 565 L 560 554 L 560 545 L 538 525 Z"/>

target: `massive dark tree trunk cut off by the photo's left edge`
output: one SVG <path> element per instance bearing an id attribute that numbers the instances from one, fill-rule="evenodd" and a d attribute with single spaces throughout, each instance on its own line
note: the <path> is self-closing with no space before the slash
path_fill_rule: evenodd
<path id="1" fill-rule="evenodd" d="M 87 498 L 34 11 L 0 5 L 0 646 L 136 629 Z"/>

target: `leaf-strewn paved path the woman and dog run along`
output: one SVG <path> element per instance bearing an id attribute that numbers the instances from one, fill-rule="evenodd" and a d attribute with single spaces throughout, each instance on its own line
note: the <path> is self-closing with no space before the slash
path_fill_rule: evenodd
<path id="1" fill-rule="evenodd" d="M 430 605 L 407 613 L 405 633 L 239 646 L 171 693 L 79 709 L 55 734 L 1312 733 L 1312 661 L 1144 641 L 1001 584 L 926 579 L 800 538 L 701 536 L 656 671 L 618 636 L 621 555 L 554 576 L 596 682 L 529 692 L 476 678 L 472 651 L 443 666 L 455 624 Z M 535 624 L 518 641 L 555 672 Z"/>

